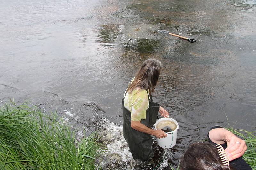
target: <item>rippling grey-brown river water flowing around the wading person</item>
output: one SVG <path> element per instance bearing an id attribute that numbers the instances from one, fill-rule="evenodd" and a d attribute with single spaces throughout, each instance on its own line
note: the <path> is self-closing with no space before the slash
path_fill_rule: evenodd
<path id="1" fill-rule="evenodd" d="M 160 169 L 177 166 L 189 144 L 228 121 L 255 131 L 255 0 L 0 2 L 0 104 L 28 99 L 99 130 L 103 169 L 154 169 L 164 154 Z M 164 65 L 153 99 L 180 129 L 171 151 L 154 141 L 154 159 L 141 163 L 122 136 L 121 99 L 150 57 Z"/>

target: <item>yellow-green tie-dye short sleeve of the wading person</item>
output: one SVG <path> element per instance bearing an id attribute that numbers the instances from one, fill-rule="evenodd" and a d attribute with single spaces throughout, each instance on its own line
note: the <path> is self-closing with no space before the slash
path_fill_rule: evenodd
<path id="1" fill-rule="evenodd" d="M 132 96 L 132 121 L 140 121 L 146 119 L 146 111 L 148 109 L 148 94 L 146 90 L 134 90 Z"/>

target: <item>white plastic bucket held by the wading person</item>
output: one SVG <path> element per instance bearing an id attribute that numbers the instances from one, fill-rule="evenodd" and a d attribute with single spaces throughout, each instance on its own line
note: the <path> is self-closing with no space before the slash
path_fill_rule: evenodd
<path id="1" fill-rule="evenodd" d="M 179 124 L 173 118 L 164 117 L 156 121 L 155 128 L 157 127 L 157 124 L 159 124 L 159 122 L 162 122 L 164 120 L 173 121 L 176 124 L 177 128 L 172 132 L 165 133 L 167 135 L 165 138 L 161 138 L 161 139 L 157 138 L 157 144 L 162 148 L 172 148 L 173 146 L 176 145 L 177 131 L 179 130 Z"/>

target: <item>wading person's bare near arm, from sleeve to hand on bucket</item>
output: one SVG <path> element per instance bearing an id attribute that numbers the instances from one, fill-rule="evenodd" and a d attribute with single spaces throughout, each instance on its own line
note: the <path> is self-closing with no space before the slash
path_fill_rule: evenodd
<path id="1" fill-rule="evenodd" d="M 140 121 L 132 121 L 131 120 L 131 128 L 142 132 L 142 133 L 147 133 L 149 135 L 153 135 L 156 138 L 163 138 L 166 137 L 167 135 L 162 131 L 161 129 L 153 130 L 145 126 L 144 124 L 140 123 Z"/>

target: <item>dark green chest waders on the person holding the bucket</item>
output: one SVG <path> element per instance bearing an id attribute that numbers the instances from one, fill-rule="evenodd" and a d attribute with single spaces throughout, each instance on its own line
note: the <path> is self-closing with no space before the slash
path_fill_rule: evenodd
<path id="1" fill-rule="evenodd" d="M 148 90 L 146 90 L 148 93 Z M 127 92 L 125 92 L 126 95 Z M 124 95 L 124 97 L 125 97 Z M 140 123 L 144 124 L 148 128 L 152 129 L 153 125 L 156 123 L 156 118 L 159 111 L 159 104 L 154 103 L 152 96 L 148 95 L 148 110 L 146 111 L 146 119 L 141 119 Z M 131 112 L 124 107 L 124 98 L 122 99 L 123 107 L 123 134 L 132 157 L 134 159 L 140 159 L 146 161 L 150 156 L 153 155 L 152 148 L 152 137 L 149 134 L 139 132 L 131 128 Z"/>

